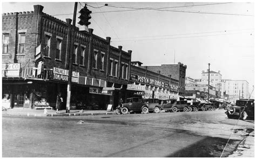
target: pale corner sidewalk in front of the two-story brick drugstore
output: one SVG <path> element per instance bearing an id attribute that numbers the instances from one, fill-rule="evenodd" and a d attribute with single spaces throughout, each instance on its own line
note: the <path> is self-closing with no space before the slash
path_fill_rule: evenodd
<path id="1" fill-rule="evenodd" d="M 82 115 L 107 115 L 116 114 L 116 112 L 107 112 L 106 110 L 70 110 L 70 113 L 66 113 L 66 110 L 59 110 L 60 114 L 56 113 L 56 110 L 52 109 L 31 109 L 31 108 L 13 108 L 2 111 L 2 115 L 20 115 L 20 116 L 82 116 Z"/>

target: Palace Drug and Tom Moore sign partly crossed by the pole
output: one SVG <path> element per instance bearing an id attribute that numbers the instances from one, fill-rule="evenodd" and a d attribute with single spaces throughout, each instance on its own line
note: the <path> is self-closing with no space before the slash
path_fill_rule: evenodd
<path id="1" fill-rule="evenodd" d="M 69 70 L 53 67 L 52 79 L 59 80 L 59 81 L 68 81 L 69 80 Z M 78 79 L 79 79 L 79 72 L 72 71 L 71 81 L 78 83 Z"/>

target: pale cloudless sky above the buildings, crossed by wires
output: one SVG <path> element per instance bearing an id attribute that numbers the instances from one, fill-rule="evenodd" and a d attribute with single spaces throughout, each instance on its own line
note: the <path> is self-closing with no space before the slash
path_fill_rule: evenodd
<path id="1" fill-rule="evenodd" d="M 201 71 L 206 71 L 210 63 L 210 70 L 220 71 L 223 79 L 247 80 L 250 87 L 254 85 L 253 3 L 107 2 L 116 7 L 165 8 L 161 10 L 172 11 L 144 9 L 105 12 L 131 9 L 103 6 L 106 2 L 86 2 L 96 7 L 87 6 L 92 11 L 89 27 L 94 30 L 93 33 L 103 38 L 111 37 L 112 46 L 122 45 L 124 51 L 132 50 L 132 60 L 141 61 L 143 65 L 174 64 L 175 52 L 175 64 L 180 61 L 187 65 L 187 77 L 200 78 Z M 33 11 L 33 5 L 36 4 L 44 6 L 43 12 L 61 20 L 73 17 L 73 2 L 6 2 L 2 3 L 2 13 Z M 84 5 L 83 2 L 81 4 Z M 100 6 L 103 7 L 97 8 Z M 170 8 L 173 6 L 183 7 Z M 80 8 L 82 6 L 78 3 L 78 11 Z"/>

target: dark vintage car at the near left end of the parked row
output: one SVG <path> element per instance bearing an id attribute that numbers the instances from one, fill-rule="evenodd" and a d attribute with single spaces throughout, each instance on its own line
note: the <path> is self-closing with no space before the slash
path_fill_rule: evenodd
<path id="1" fill-rule="evenodd" d="M 121 109 L 122 114 L 127 113 L 149 113 L 149 108 L 147 105 L 143 102 L 141 98 L 133 97 L 133 98 L 127 98 L 127 103 L 123 103 L 123 107 Z"/>

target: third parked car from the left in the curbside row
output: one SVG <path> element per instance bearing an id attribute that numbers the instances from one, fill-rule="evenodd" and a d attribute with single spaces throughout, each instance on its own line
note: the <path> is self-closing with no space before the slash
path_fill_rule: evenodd
<path id="1" fill-rule="evenodd" d="M 165 110 L 165 112 L 172 112 L 173 107 L 177 107 L 176 103 L 177 101 L 175 99 L 160 100 L 160 104 L 154 107 L 154 112 L 160 113 L 160 110 Z"/>

